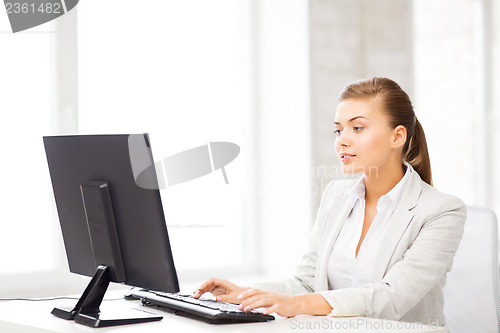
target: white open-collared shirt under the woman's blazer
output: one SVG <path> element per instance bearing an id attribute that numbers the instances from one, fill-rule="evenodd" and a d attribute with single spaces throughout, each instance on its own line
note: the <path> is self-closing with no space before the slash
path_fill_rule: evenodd
<path id="1" fill-rule="evenodd" d="M 373 265 L 377 260 L 380 241 L 387 228 L 396 204 L 403 193 L 413 169 L 408 167 L 403 178 L 377 202 L 377 213 L 365 235 L 358 256 L 356 248 L 361 238 L 365 215 L 365 182 L 363 177 L 355 184 L 351 193 L 351 212 L 333 246 L 328 261 L 328 288 L 343 289 L 362 287 L 372 282 Z"/>

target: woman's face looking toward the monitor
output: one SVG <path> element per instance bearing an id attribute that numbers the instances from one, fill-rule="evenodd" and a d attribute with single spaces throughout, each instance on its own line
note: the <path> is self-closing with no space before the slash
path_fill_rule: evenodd
<path id="1" fill-rule="evenodd" d="M 335 133 L 335 149 L 344 173 L 378 175 L 394 157 L 394 148 L 400 146 L 394 144 L 396 130 L 380 111 L 376 97 L 342 101 L 335 116 Z"/>

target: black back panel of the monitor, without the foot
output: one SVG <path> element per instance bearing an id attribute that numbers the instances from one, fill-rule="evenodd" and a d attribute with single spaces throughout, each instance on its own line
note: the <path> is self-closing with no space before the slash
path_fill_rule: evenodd
<path id="1" fill-rule="evenodd" d="M 148 135 L 133 136 L 135 155 L 144 159 L 139 161 L 140 164 L 153 165 Z M 69 268 L 73 273 L 86 276 L 93 276 L 101 264 L 109 266 L 113 273 L 119 271 L 113 267 L 114 262 L 98 262 L 100 259 L 94 255 L 100 245 L 98 242 L 102 240 L 91 237 L 82 195 L 82 185 L 105 183 L 124 269 L 123 279 L 117 281 L 116 275 L 112 275 L 115 276 L 112 280 L 151 290 L 178 292 L 160 193 L 158 189 L 145 189 L 136 184 L 129 137 L 72 135 L 43 138 Z M 154 172 L 141 177 L 151 177 L 150 182 L 157 181 Z M 90 205 L 91 201 L 87 201 Z M 101 246 L 106 250 L 108 244 Z"/>

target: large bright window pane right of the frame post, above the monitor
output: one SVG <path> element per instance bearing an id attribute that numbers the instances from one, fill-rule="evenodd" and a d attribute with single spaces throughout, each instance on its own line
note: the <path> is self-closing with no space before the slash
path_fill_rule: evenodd
<path id="1" fill-rule="evenodd" d="M 245 1 L 139 5 L 78 5 L 79 132 L 148 132 L 156 160 L 210 141 L 238 144 L 240 155 L 226 167 L 229 185 L 217 171 L 161 195 L 181 275 L 240 265 L 251 149 Z"/>

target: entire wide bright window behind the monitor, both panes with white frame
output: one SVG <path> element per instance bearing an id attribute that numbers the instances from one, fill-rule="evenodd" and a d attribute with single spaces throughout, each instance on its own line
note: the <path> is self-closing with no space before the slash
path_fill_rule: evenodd
<path id="1" fill-rule="evenodd" d="M 16 253 L 0 259 L 10 270 L 0 282 L 9 294 L 79 292 L 87 282 L 65 265 L 42 144 L 57 133 L 149 132 L 156 160 L 210 141 L 241 147 L 229 185 L 216 171 L 161 191 L 181 281 L 256 264 L 282 273 L 297 262 L 291 252 L 302 254 L 297 240 L 311 222 L 307 2 L 286 11 L 248 0 L 137 5 L 87 0 L 15 35 L 2 17 L 0 124 L 13 162 L 0 169 L 10 205 L 1 231 L 11 237 L 0 246 Z M 33 276 L 39 285 L 27 282 Z"/>

